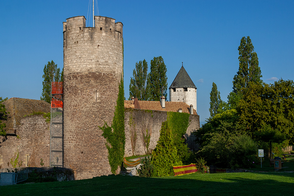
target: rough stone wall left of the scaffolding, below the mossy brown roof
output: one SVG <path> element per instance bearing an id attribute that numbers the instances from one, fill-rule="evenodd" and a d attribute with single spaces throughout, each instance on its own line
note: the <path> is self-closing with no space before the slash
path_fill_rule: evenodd
<path id="1" fill-rule="evenodd" d="M 29 115 L 21 119 L 20 125 L 17 126 L 18 137 L 8 135 L 7 140 L 0 143 L 0 169 L 11 168 L 11 158 L 15 160 L 17 153 L 18 163 L 22 161 L 23 167 L 49 166 L 50 123 L 45 120 L 43 115 Z M 43 166 L 40 164 L 41 158 Z"/>

